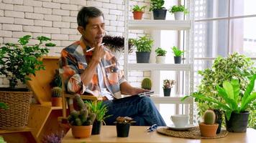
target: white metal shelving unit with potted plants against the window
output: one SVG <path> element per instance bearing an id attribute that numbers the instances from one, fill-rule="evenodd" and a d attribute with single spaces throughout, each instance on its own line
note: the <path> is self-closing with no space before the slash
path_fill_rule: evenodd
<path id="1" fill-rule="evenodd" d="M 193 7 L 193 1 L 186 1 L 187 7 Z M 125 13 L 124 13 L 124 75 L 128 77 L 128 71 L 140 70 L 140 71 L 185 71 L 185 88 L 186 94 L 193 92 L 193 19 L 189 20 L 130 20 L 129 19 L 129 0 L 125 1 Z M 191 17 L 193 17 L 193 11 L 190 11 Z M 186 31 L 186 63 L 185 64 L 130 64 L 128 61 L 128 37 L 129 30 L 183 30 Z M 128 79 L 129 81 L 129 79 Z M 163 97 L 159 94 L 155 94 L 152 101 L 155 104 L 189 104 L 190 123 L 193 122 L 193 99 L 188 98 L 184 102 L 180 102 L 183 95 L 176 95 L 176 97 Z"/>

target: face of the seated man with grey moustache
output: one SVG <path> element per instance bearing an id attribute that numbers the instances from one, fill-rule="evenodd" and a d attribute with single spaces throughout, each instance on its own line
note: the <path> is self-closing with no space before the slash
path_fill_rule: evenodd
<path id="1" fill-rule="evenodd" d="M 83 37 L 89 44 L 99 44 L 105 34 L 105 23 L 103 16 L 88 19 L 88 24 L 83 32 Z"/>

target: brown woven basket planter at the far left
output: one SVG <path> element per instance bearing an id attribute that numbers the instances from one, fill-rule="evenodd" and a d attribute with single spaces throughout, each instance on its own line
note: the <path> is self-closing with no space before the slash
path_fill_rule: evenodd
<path id="1" fill-rule="evenodd" d="M 29 105 L 32 92 L 0 91 L 0 102 L 9 109 L 0 109 L 0 129 L 24 129 L 29 117 Z"/>

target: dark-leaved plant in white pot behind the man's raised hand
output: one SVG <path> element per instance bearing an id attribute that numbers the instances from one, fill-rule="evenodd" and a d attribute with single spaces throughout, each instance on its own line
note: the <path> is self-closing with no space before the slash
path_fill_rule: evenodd
<path id="1" fill-rule="evenodd" d="M 111 53 L 114 54 L 117 60 L 119 59 L 119 57 L 122 55 L 124 51 L 123 36 L 106 35 L 103 37 L 102 43 L 104 43 L 104 46 L 110 49 Z M 128 51 L 129 53 L 132 53 L 132 39 L 129 39 Z"/>

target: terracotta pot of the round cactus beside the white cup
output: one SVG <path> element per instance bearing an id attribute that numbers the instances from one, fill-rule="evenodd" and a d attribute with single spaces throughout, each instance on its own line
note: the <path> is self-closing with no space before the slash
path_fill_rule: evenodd
<path id="1" fill-rule="evenodd" d="M 204 122 L 199 124 L 201 136 L 203 137 L 215 137 L 218 127 L 219 124 L 204 124 Z"/>

